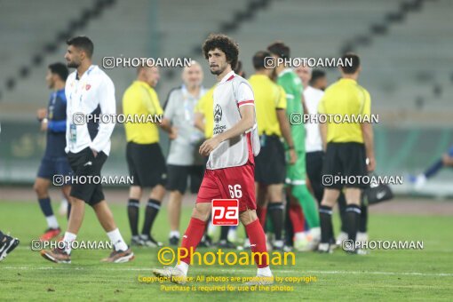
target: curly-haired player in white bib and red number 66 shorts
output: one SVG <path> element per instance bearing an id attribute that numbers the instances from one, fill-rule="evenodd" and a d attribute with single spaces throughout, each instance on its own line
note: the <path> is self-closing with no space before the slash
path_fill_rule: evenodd
<path id="1" fill-rule="evenodd" d="M 153 273 L 171 282 L 185 283 L 192 251 L 201 241 L 211 214 L 213 199 L 234 198 L 239 201 L 239 219 L 250 238 L 250 247 L 258 265 L 257 276 L 249 285 L 271 284 L 273 274 L 266 255 L 266 236 L 259 224 L 255 201 L 255 161 L 259 138 L 253 91 L 250 84 L 234 74 L 239 49 L 225 35 L 211 35 L 203 44 L 203 55 L 209 61 L 211 74 L 218 84 L 214 89 L 214 136 L 204 141 L 201 155 L 209 155 L 195 209 L 183 236 L 180 263 L 174 267 L 154 269 Z M 182 250 L 179 250 L 182 253 Z M 258 253 L 264 255 L 262 258 Z"/>

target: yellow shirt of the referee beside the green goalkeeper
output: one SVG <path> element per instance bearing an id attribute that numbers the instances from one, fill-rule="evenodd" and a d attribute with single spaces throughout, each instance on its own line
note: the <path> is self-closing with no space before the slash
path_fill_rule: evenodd
<path id="1" fill-rule="evenodd" d="M 282 137 L 277 109 L 286 109 L 286 94 L 282 86 L 265 75 L 250 76 L 249 83 L 255 96 L 258 134 Z"/>

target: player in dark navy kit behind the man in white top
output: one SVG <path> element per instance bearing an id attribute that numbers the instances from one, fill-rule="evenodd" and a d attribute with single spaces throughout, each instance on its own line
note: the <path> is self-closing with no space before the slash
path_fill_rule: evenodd
<path id="1" fill-rule="evenodd" d="M 42 241 L 49 241 L 60 234 L 60 226 L 52 211 L 49 186 L 55 175 L 67 176 L 71 172 L 66 147 L 66 95 L 65 84 L 68 77 L 68 68 L 62 63 L 49 65 L 45 81 L 52 93 L 47 109 L 39 109 L 38 120 L 41 130 L 47 132 L 46 146 L 43 160 L 39 166 L 35 186 L 39 206 L 47 220 L 47 230 L 40 237 Z M 61 191 L 68 202 L 70 186 L 61 187 Z M 70 204 L 70 202 L 69 202 Z M 68 209 L 69 210 L 69 209 Z"/>

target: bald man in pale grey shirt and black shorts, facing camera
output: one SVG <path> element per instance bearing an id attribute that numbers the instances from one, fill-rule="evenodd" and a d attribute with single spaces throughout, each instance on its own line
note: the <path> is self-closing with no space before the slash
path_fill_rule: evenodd
<path id="1" fill-rule="evenodd" d="M 179 219 L 181 202 L 187 190 L 187 179 L 190 190 L 197 193 L 203 179 L 203 157 L 198 148 L 203 143 L 203 132 L 195 128 L 195 105 L 206 90 L 202 86 L 203 69 L 199 63 L 192 61 L 182 71 L 183 84 L 170 91 L 164 106 L 163 123 L 171 127 L 171 145 L 167 158 L 168 182 L 170 191 L 168 213 L 171 232 L 171 245 L 179 244 Z M 170 124 L 169 124 L 170 123 Z"/>

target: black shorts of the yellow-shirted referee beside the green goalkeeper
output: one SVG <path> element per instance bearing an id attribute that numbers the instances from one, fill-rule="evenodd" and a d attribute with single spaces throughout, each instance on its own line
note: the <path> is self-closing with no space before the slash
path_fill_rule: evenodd
<path id="1" fill-rule="evenodd" d="M 261 151 L 255 157 L 255 181 L 264 185 L 283 184 L 285 180 L 285 151 L 277 135 L 261 135 Z"/>

